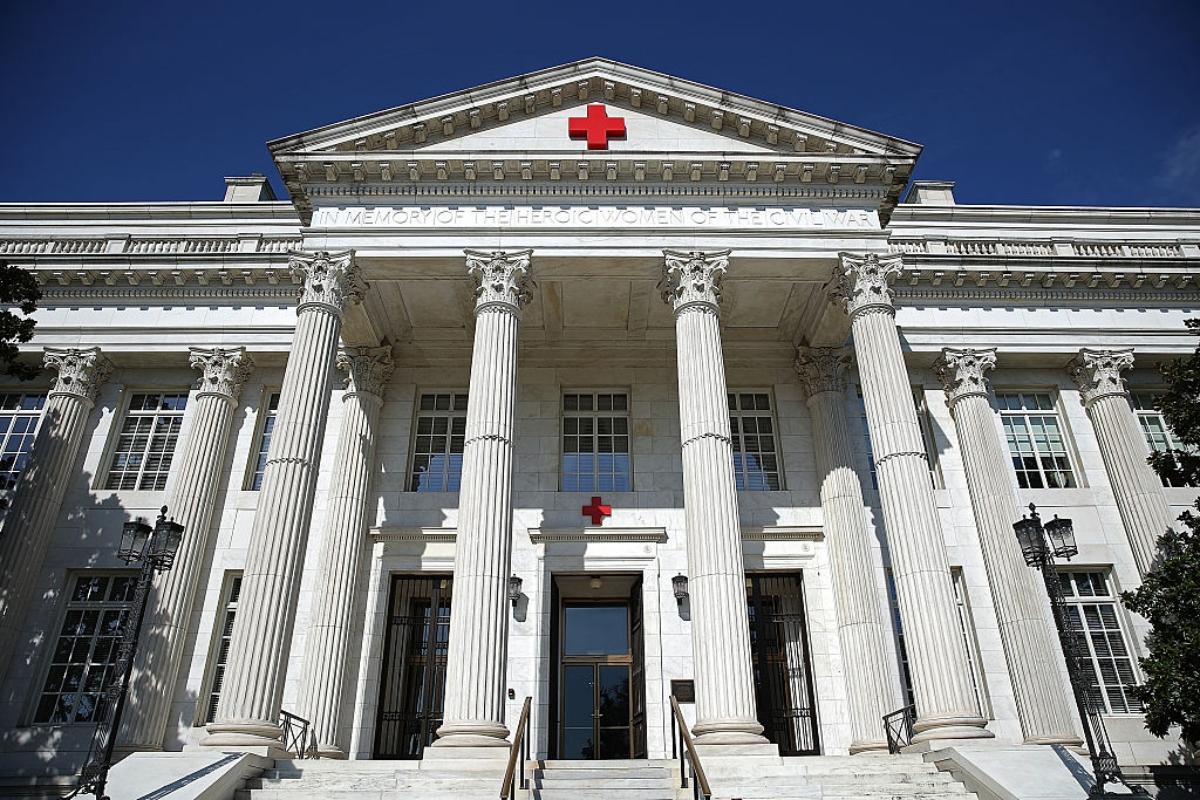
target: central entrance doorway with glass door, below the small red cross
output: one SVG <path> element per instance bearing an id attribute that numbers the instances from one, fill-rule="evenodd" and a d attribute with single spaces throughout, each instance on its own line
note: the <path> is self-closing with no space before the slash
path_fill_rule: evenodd
<path id="1" fill-rule="evenodd" d="M 554 576 L 551 757 L 646 757 L 641 576 Z"/>

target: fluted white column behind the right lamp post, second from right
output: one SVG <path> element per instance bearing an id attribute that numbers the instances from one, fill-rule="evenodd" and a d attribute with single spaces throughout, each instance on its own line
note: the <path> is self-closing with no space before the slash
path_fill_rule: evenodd
<path id="1" fill-rule="evenodd" d="M 1044 589 L 1037 573 L 1025 565 L 1013 535 L 1013 522 L 1021 518 L 1020 499 L 984 377 L 995 366 L 995 348 L 943 348 L 934 371 L 946 387 L 959 433 L 971 509 L 1025 741 L 1080 744 L 1060 674 L 1056 634 L 1043 609 Z"/>

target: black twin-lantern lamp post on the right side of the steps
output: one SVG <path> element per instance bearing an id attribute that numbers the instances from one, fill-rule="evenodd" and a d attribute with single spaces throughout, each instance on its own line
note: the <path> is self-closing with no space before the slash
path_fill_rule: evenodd
<path id="1" fill-rule="evenodd" d="M 1123 783 L 1134 794 L 1145 795 L 1145 789 L 1130 787 L 1121 774 L 1121 766 L 1117 765 L 1112 746 L 1109 744 L 1108 732 L 1104 729 L 1103 708 L 1093 699 L 1088 699 L 1087 696 L 1085 680 L 1090 669 L 1090 666 L 1086 664 L 1087 645 L 1081 640 L 1078 626 L 1072 625 L 1067 619 L 1067 601 L 1063 597 L 1062 583 L 1055 569 L 1056 558 L 1069 561 L 1079 554 L 1070 519 L 1060 519 L 1056 515 L 1054 519 L 1043 524 L 1037 506 L 1031 503 L 1030 516 L 1014 522 L 1013 530 L 1016 531 L 1016 541 L 1020 542 L 1025 563 L 1042 571 L 1042 581 L 1045 583 L 1046 595 L 1050 597 L 1054 624 L 1058 630 L 1058 642 L 1067 661 L 1067 675 L 1070 678 L 1070 688 L 1075 694 L 1075 708 L 1079 710 L 1079 721 L 1084 724 L 1084 738 L 1087 741 L 1092 772 L 1096 776 L 1096 786 L 1092 787 L 1088 796 L 1104 796 L 1105 783 Z"/>

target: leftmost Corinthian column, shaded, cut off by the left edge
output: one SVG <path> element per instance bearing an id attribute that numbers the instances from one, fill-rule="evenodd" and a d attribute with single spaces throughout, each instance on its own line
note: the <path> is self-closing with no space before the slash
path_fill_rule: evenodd
<path id="1" fill-rule="evenodd" d="M 47 348 L 43 363 L 59 377 L 46 398 L 29 464 L 0 530 L 0 681 L 14 655 L 25 652 L 17 637 L 25 621 L 29 594 L 54 534 L 96 392 L 113 372 L 100 348 Z"/>

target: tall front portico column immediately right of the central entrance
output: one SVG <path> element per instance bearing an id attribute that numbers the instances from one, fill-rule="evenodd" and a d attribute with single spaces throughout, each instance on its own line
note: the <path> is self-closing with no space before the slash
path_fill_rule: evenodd
<path id="1" fill-rule="evenodd" d="M 697 744 L 766 742 L 750 666 L 742 523 L 721 354 L 721 279 L 730 251 L 664 251 L 662 300 L 676 314 L 683 503 L 688 528 Z"/>

